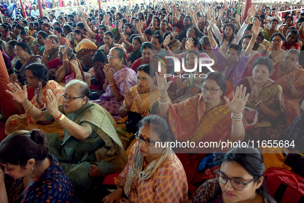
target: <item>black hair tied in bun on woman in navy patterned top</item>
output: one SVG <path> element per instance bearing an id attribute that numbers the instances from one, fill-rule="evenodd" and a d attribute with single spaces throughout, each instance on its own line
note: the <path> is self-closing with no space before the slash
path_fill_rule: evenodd
<path id="1" fill-rule="evenodd" d="M 16 131 L 0 143 L 0 163 L 2 164 L 20 165 L 22 169 L 25 169 L 27 161 L 35 159 L 35 163 L 40 167 L 47 156 L 48 147 L 45 134 L 38 129 L 31 132 Z"/>

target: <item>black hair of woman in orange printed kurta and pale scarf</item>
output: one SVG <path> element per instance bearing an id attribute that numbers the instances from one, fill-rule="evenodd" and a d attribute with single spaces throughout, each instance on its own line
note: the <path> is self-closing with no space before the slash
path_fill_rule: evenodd
<path id="1" fill-rule="evenodd" d="M 141 119 L 138 128 L 150 126 L 150 132 L 156 133 L 162 142 L 175 142 L 175 137 L 166 119 L 158 115 L 150 115 Z M 172 149 L 176 151 L 176 148 Z"/>

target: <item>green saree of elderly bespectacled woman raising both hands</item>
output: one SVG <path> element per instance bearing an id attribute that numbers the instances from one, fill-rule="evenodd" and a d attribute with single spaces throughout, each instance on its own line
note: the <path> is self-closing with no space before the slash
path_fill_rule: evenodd
<path id="1" fill-rule="evenodd" d="M 100 105 L 88 103 L 75 113 L 65 113 L 63 104 L 58 109 L 90 133 L 84 140 L 76 139 L 65 130 L 63 139 L 57 134 L 46 134 L 50 154 L 58 159 L 75 191 L 83 195 L 92 187 L 88 176 L 92 163 L 96 163 L 102 175 L 106 176 L 121 172 L 128 158 L 115 131 L 115 120 Z M 54 119 L 47 110 L 43 115 L 47 120 Z"/>

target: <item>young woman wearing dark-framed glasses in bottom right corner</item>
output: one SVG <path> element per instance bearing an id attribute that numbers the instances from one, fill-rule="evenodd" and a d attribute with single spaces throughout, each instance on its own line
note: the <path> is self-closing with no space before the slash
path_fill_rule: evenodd
<path id="1" fill-rule="evenodd" d="M 231 148 L 222 158 L 217 178 L 207 180 L 191 197 L 199 202 L 275 203 L 267 193 L 264 180 L 264 161 L 261 152 L 253 147 Z"/>

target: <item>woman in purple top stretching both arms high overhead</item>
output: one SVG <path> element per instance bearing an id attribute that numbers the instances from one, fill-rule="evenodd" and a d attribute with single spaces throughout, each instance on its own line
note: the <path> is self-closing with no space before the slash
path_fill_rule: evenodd
<path id="1" fill-rule="evenodd" d="M 241 55 L 241 46 L 237 44 L 230 44 L 227 49 L 226 56 L 222 54 L 219 50 L 219 47 L 216 43 L 216 41 L 213 38 L 211 28 L 216 23 L 216 19 L 213 18 L 208 26 L 208 34 L 210 36 L 210 44 L 212 47 L 212 51 L 214 53 L 214 56 L 216 57 L 218 64 L 218 70 L 219 72 L 223 73 L 226 80 L 229 80 L 234 85 L 237 85 L 238 82 L 241 80 L 241 77 L 243 75 L 243 72 L 245 68 L 247 67 L 247 63 L 251 57 L 251 51 L 254 47 L 255 41 L 257 39 L 257 36 L 259 34 L 259 21 L 255 21 L 254 26 L 252 27 L 252 38 L 246 47 L 246 50 L 242 54 L 242 57 L 239 60 L 239 57 Z"/>

